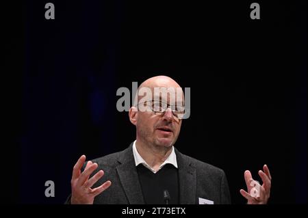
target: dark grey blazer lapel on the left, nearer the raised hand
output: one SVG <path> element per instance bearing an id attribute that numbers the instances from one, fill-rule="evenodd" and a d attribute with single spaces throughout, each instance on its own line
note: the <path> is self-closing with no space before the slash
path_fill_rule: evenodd
<path id="1" fill-rule="evenodd" d="M 116 170 L 129 204 L 144 204 L 132 146 L 123 151 L 118 162 L 121 164 L 116 167 Z"/>

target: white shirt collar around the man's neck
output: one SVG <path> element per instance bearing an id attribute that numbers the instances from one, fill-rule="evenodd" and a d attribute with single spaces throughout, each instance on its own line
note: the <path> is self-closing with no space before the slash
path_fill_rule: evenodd
<path id="1" fill-rule="evenodd" d="M 175 154 L 175 147 L 173 146 L 172 146 L 172 152 L 170 153 L 166 161 L 164 161 L 164 163 L 162 163 L 162 165 L 159 166 L 159 169 L 157 171 L 155 171 L 152 167 L 150 167 L 149 164 L 147 164 L 146 161 L 144 161 L 142 156 L 139 154 L 136 148 L 136 140 L 133 141 L 133 158 L 135 159 L 136 166 L 140 165 L 141 163 L 142 165 L 144 165 L 144 167 L 150 169 L 151 172 L 153 172 L 154 174 L 156 174 L 159 171 L 159 169 L 162 169 L 162 167 L 164 167 L 164 165 L 166 165 L 167 163 L 170 163 L 177 168 L 177 155 Z"/>

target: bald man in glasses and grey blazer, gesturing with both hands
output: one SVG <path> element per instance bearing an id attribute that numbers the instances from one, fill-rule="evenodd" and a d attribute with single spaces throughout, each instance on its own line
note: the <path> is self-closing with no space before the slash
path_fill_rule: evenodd
<path id="1" fill-rule="evenodd" d="M 163 90 L 163 91 L 162 91 Z M 163 93 L 168 90 L 168 93 Z M 146 95 L 141 95 L 145 93 Z M 150 93 L 150 94 L 149 94 Z M 182 96 L 182 98 L 174 98 Z M 222 171 L 175 147 L 185 113 L 184 94 L 170 77 L 158 76 L 138 87 L 129 120 L 136 141 L 114 154 L 86 163 L 82 155 L 73 168 L 68 204 L 230 204 Z M 270 172 L 259 171 L 263 185 L 244 172 L 248 204 L 266 204 Z"/>

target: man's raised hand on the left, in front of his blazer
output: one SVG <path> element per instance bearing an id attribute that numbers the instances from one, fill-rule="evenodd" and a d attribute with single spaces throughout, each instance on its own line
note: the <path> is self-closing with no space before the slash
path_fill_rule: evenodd
<path id="1" fill-rule="evenodd" d="M 91 189 L 91 187 L 103 176 L 103 170 L 97 172 L 94 176 L 89 176 L 97 169 L 97 163 L 88 161 L 84 172 L 81 173 L 81 167 L 86 161 L 86 156 L 82 155 L 73 168 L 73 176 L 70 184 L 72 185 L 72 197 L 70 204 L 93 204 L 94 197 L 105 191 L 111 185 L 110 180 L 103 185 Z"/>

